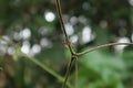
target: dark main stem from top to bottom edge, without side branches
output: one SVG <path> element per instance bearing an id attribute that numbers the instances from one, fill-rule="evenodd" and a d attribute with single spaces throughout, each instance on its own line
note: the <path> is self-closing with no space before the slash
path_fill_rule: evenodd
<path id="1" fill-rule="evenodd" d="M 60 21 L 60 24 L 61 24 L 61 29 L 63 31 L 63 34 L 65 36 L 65 44 L 68 45 L 69 50 L 70 50 L 70 53 L 71 53 L 71 61 L 69 63 L 69 66 L 68 66 L 68 69 L 66 69 L 66 73 L 65 73 L 65 79 L 64 79 L 64 82 L 62 85 L 62 88 L 66 88 L 66 81 L 68 81 L 68 78 L 69 78 L 69 74 L 70 74 L 70 70 L 71 70 L 71 67 L 73 65 L 73 63 L 75 63 L 75 53 L 71 46 L 71 42 L 69 40 L 69 36 L 66 34 L 66 31 L 65 31 L 65 28 L 64 28 L 64 23 L 63 23 L 63 19 L 62 19 L 62 11 L 61 11 L 61 4 L 60 4 L 60 0 L 55 0 L 55 6 L 57 6 L 57 12 L 58 12 L 58 16 L 59 16 L 59 21 Z"/>

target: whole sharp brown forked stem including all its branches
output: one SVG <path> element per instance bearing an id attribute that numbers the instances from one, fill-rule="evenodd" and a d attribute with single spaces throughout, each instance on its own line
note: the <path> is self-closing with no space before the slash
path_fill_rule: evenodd
<path id="1" fill-rule="evenodd" d="M 68 78 L 69 78 L 69 74 L 71 72 L 71 67 L 74 63 L 75 65 L 75 88 L 78 88 L 78 56 L 81 56 L 81 55 L 84 55 L 89 52 L 92 52 L 92 51 L 96 51 L 99 48 L 103 48 L 103 47 L 108 47 L 108 46 L 113 46 L 113 45 L 127 45 L 127 44 L 133 44 L 133 43 L 110 43 L 110 44 L 104 44 L 104 45 L 99 45 L 99 46 L 95 46 L 93 48 L 90 48 L 90 50 L 86 50 L 86 51 L 83 51 L 81 53 L 75 53 L 73 50 L 72 50 L 72 46 L 71 46 L 71 42 L 69 40 L 69 36 L 66 34 L 66 31 L 65 31 L 65 28 L 64 28 L 64 23 L 63 23 L 63 19 L 62 19 L 62 11 L 61 11 L 61 4 L 60 4 L 60 0 L 55 0 L 55 6 L 57 6 L 57 12 L 58 12 L 58 16 L 59 16 L 59 21 L 60 21 L 60 24 L 61 24 L 61 29 L 63 31 L 63 34 L 64 34 L 64 37 L 65 37 L 65 44 L 68 45 L 70 52 L 71 52 L 71 61 L 69 63 L 69 66 L 68 66 L 68 69 L 66 69 L 66 73 L 65 73 L 65 78 L 64 78 L 64 82 L 63 82 L 63 86 L 62 88 L 66 88 L 66 81 L 68 81 Z"/>

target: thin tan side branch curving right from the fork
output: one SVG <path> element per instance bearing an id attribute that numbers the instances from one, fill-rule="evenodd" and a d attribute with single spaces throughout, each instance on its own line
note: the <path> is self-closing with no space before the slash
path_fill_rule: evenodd
<path id="1" fill-rule="evenodd" d="M 81 52 L 81 53 L 76 53 L 76 55 L 80 56 L 80 55 L 86 54 L 89 52 L 92 52 L 92 51 L 95 51 L 95 50 L 99 50 L 99 48 L 103 48 L 103 47 L 108 47 L 108 46 L 113 46 L 113 45 L 133 45 L 133 43 L 109 43 L 109 44 L 92 47 L 92 48 L 86 50 L 86 51 Z"/>

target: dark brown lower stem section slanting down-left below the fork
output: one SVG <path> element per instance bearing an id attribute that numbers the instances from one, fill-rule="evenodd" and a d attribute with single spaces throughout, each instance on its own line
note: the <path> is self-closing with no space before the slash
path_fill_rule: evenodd
<path id="1" fill-rule="evenodd" d="M 66 88 L 66 81 L 69 79 L 69 74 L 71 72 L 71 68 L 72 68 L 72 65 L 73 65 L 74 62 L 75 62 L 75 57 L 71 57 L 71 61 L 70 61 L 69 66 L 66 68 L 65 79 L 64 79 L 64 82 L 62 85 L 62 88 Z"/>

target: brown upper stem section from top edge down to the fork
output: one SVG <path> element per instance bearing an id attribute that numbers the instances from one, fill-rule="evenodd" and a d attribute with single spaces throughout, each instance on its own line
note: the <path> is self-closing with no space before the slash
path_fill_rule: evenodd
<path id="1" fill-rule="evenodd" d="M 74 51 L 72 50 L 71 42 L 70 42 L 70 40 L 69 40 L 69 36 L 68 36 L 66 31 L 65 31 L 65 28 L 64 28 L 64 23 L 63 23 L 63 19 L 62 19 L 62 11 L 61 11 L 60 0 L 55 0 L 55 6 L 57 6 L 57 12 L 58 12 L 59 21 L 60 21 L 60 24 L 61 24 L 61 29 L 62 29 L 63 34 L 64 34 L 64 36 L 65 36 L 65 44 L 68 45 L 71 54 L 74 54 Z"/>

